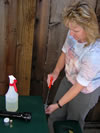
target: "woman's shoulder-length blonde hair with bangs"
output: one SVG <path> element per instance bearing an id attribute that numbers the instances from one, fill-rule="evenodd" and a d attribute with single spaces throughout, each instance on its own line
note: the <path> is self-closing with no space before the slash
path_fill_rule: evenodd
<path id="1" fill-rule="evenodd" d="M 65 25 L 68 25 L 69 22 L 75 22 L 85 30 L 87 34 L 86 46 L 100 38 L 96 14 L 86 2 L 74 3 L 69 8 L 64 8 L 63 21 Z"/>

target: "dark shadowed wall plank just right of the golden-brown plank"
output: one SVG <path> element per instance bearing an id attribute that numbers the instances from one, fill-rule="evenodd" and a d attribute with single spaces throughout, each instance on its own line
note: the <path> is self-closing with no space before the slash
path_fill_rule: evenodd
<path id="1" fill-rule="evenodd" d="M 37 0 L 36 26 L 35 26 L 35 53 L 36 58 L 33 60 L 32 71 L 32 89 L 34 95 L 44 95 L 43 79 L 45 71 L 45 58 L 48 43 L 48 23 L 50 15 L 50 0 Z M 35 67 L 34 67 L 35 66 Z"/>

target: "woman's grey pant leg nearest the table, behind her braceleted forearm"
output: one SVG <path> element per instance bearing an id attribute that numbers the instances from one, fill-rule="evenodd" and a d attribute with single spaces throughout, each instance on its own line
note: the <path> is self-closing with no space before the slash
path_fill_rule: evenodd
<path id="1" fill-rule="evenodd" d="M 59 88 L 53 103 L 56 103 L 57 100 L 59 100 L 71 86 L 72 84 L 66 79 L 66 77 L 64 77 L 59 85 Z M 67 104 L 62 108 L 57 109 L 49 116 L 48 118 L 49 133 L 54 133 L 54 130 L 53 130 L 54 121 L 66 119 L 66 110 L 67 110 Z"/>

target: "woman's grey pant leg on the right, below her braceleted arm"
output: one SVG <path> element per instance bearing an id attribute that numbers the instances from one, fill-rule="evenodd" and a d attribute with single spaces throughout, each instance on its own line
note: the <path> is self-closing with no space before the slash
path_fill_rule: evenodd
<path id="1" fill-rule="evenodd" d="M 80 93 L 68 104 L 67 120 L 78 120 L 83 129 L 85 117 L 98 102 L 99 96 L 100 88 L 89 94 Z"/>

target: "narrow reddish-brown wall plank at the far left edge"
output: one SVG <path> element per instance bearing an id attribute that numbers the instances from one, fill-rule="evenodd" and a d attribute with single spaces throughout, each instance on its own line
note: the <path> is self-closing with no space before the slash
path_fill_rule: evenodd
<path id="1" fill-rule="evenodd" d="M 0 95 L 6 89 L 6 10 L 4 0 L 0 0 Z"/>

